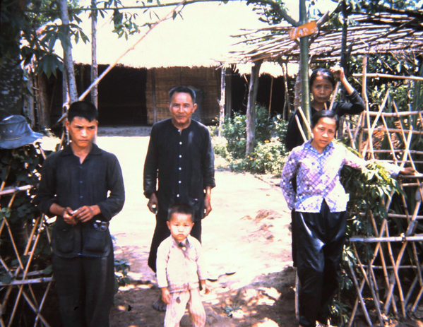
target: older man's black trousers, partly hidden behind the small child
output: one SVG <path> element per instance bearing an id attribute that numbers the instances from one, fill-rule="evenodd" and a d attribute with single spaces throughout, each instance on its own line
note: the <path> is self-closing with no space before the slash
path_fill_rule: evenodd
<path id="1" fill-rule="evenodd" d="M 167 227 L 167 220 L 155 218 L 155 230 L 153 240 L 151 241 L 150 254 L 148 255 L 148 266 L 156 273 L 155 261 L 157 259 L 157 249 L 167 237 L 170 236 L 169 227 Z M 191 230 L 191 236 L 198 239 L 201 243 L 201 220 L 194 222 Z"/>

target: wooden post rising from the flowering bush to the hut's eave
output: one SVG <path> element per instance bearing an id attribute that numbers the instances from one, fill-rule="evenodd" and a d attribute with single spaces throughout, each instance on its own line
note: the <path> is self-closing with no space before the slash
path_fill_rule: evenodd
<path id="1" fill-rule="evenodd" d="M 258 75 L 263 60 L 255 61 L 251 68 L 249 97 L 246 105 L 246 154 L 254 151 L 256 145 L 256 97 L 258 90 Z"/>

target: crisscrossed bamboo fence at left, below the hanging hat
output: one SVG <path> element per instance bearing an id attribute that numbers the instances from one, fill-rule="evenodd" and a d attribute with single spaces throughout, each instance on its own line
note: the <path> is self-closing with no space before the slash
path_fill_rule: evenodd
<path id="1" fill-rule="evenodd" d="M 44 155 L 42 149 L 40 153 Z M 9 165 L 8 174 L 11 171 L 11 165 Z M 8 208 L 11 208 L 13 201 L 15 201 L 16 194 L 18 192 L 25 192 L 32 189 L 32 185 L 25 186 L 9 186 L 6 187 L 7 176 L 4 182 L 0 186 L 0 197 L 9 196 Z M 1 209 L 1 208 L 0 208 Z M 41 311 L 49 294 L 49 290 L 52 286 L 53 278 L 51 274 L 45 276 L 43 270 L 39 270 L 35 264 L 35 253 L 37 244 L 40 242 L 40 237 L 43 233 L 47 233 L 47 239 L 51 242 L 49 230 L 46 225 L 46 218 L 44 215 L 39 215 L 35 220 L 28 221 L 30 223 L 30 234 L 28 235 L 28 242 L 25 244 L 23 250 L 20 249 L 20 244 L 16 242 L 16 235 L 13 235 L 13 229 L 11 228 L 11 222 L 8 221 L 6 216 L 1 220 L 0 223 L 0 235 L 3 242 L 10 242 L 13 247 L 13 257 L 10 253 L 3 254 L 0 252 L 0 265 L 6 271 L 8 281 L 6 283 L 0 282 L 0 326 L 10 327 L 16 326 L 16 320 L 19 319 L 22 314 L 22 302 L 28 304 L 30 309 L 35 314 L 35 320 L 33 326 L 46 326 L 49 327 L 49 323 L 42 315 Z M 26 258 L 26 261 L 24 260 Z M 18 264 L 14 265 L 13 261 Z M 42 285 L 42 294 L 34 289 L 34 285 Z"/>

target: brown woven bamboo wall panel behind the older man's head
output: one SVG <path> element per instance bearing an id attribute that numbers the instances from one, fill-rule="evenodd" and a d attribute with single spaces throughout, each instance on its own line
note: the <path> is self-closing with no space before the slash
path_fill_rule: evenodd
<path id="1" fill-rule="evenodd" d="M 153 70 L 147 74 L 145 90 L 147 102 L 147 122 L 153 124 Z M 210 124 L 219 115 L 218 99 L 220 98 L 220 70 L 215 67 L 171 67 L 154 69 L 157 121 L 170 117 L 167 102 L 169 90 L 178 85 L 203 91 L 203 124 Z"/>

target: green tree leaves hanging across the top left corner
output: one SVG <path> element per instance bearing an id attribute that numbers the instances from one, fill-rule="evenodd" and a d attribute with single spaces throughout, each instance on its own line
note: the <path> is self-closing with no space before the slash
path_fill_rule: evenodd
<path id="1" fill-rule="evenodd" d="M 56 23 L 60 18 L 59 1 L 63 0 L 1 1 L 0 64 L 5 58 L 20 57 L 25 65 L 34 64 L 35 73 L 45 73 L 47 77 L 56 75 L 57 69 L 63 70 L 63 61 L 54 53 L 54 45 L 60 41 L 64 48 L 71 47 L 71 39 L 76 43 L 79 40 L 89 42 L 78 25 L 82 21 L 78 15 L 91 9 L 91 6 L 81 7 L 77 0 L 72 0 L 68 3 L 71 23 L 63 25 Z M 118 37 L 128 39 L 129 35 L 140 32 L 136 23 L 137 14 L 125 11 L 120 0 L 99 1 L 96 4 L 91 15 L 105 17 L 105 12 L 112 10 L 113 32 Z M 147 11 L 150 9 L 145 8 L 143 13 Z"/>

